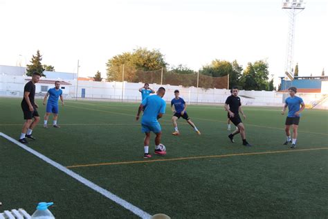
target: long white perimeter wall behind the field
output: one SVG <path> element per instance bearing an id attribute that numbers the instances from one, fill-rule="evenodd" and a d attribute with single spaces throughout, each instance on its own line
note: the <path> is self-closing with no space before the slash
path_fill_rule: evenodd
<path id="1" fill-rule="evenodd" d="M 26 84 L 26 76 L 0 76 L 0 96 L 23 96 L 24 85 Z M 60 78 L 46 78 L 48 80 L 60 80 Z M 64 96 L 66 98 L 76 98 L 76 80 L 65 80 L 72 85 L 65 85 Z M 48 86 L 52 87 L 52 85 Z M 152 89 L 158 89 L 162 85 L 150 84 Z M 49 87 L 49 88 L 50 88 Z M 85 89 L 85 98 L 101 98 L 123 101 L 140 102 L 141 94 L 138 91 L 143 87 L 143 83 L 130 82 L 93 82 L 78 81 L 78 98 L 82 97 L 82 89 Z M 174 90 L 179 89 L 180 96 L 187 103 L 215 103 L 224 104 L 226 98 L 230 95 L 227 89 L 202 89 L 196 87 L 182 87 L 173 85 L 163 85 L 166 89 L 164 99 L 169 102 L 174 98 Z M 324 86 L 322 86 L 324 87 Z M 37 84 L 36 93 L 40 94 L 41 85 Z M 302 97 L 304 103 L 313 104 L 320 100 L 324 94 L 298 94 Z M 43 96 L 40 94 L 39 96 Z M 284 99 L 288 94 L 277 93 L 275 91 L 239 91 L 243 105 L 257 106 L 282 106 Z M 316 108 L 320 108 L 316 107 Z M 326 107 L 323 107 L 327 109 Z"/>

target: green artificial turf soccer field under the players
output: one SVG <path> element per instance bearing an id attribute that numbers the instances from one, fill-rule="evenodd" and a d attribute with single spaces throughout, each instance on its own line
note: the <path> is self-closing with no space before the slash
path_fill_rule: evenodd
<path id="1" fill-rule="evenodd" d="M 0 98 L 0 132 L 18 139 L 24 123 L 21 99 Z M 222 106 L 190 105 L 197 135 L 182 119 L 172 136 L 170 106 L 160 120 L 167 155 L 143 158 L 135 120 L 138 104 L 66 100 L 61 128 L 42 128 L 28 147 L 117 195 L 149 215 L 171 218 L 327 218 L 328 113 L 305 109 L 297 148 L 286 140 L 277 107 L 244 107 L 246 139 L 228 139 Z M 152 134 L 149 151 L 154 151 Z M 35 211 L 54 202 L 56 218 L 138 218 L 81 182 L 0 136 L 0 212 Z"/>

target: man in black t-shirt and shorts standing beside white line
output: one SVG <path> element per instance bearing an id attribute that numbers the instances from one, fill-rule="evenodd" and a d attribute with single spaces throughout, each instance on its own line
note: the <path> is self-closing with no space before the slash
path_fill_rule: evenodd
<path id="1" fill-rule="evenodd" d="M 33 73 L 32 79 L 26 83 L 24 87 L 24 98 L 21 100 L 21 109 L 23 109 L 24 119 L 26 119 L 23 129 L 21 130 L 21 136 L 19 137 L 19 142 L 28 143 L 26 138 L 35 140 L 35 137 L 32 136 L 33 128 L 39 123 L 40 116 L 37 112 L 39 107 L 35 101 L 35 83 L 39 82 L 41 78 L 40 73 Z M 33 121 L 34 117 L 34 121 Z"/>

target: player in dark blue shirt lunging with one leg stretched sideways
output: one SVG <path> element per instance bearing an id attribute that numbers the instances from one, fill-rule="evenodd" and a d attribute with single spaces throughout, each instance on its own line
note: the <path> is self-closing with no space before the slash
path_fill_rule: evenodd
<path id="1" fill-rule="evenodd" d="M 178 124 L 176 123 L 176 121 L 181 116 L 192 126 L 192 128 L 194 128 L 194 130 L 195 130 L 195 132 L 197 132 L 197 134 L 201 134 L 201 132 L 199 132 L 199 130 L 197 129 L 196 125 L 194 125 L 194 123 L 192 123 L 187 112 L 185 112 L 185 109 L 187 108 L 187 104 L 185 103 L 185 100 L 183 100 L 183 98 L 179 97 L 179 90 L 176 89 L 174 91 L 174 96 L 175 96 L 175 98 L 173 98 L 171 100 L 171 109 L 172 109 L 172 112 L 174 113 L 174 115 L 172 116 L 174 132 L 172 134 L 173 135 L 180 134 L 180 132 L 178 130 Z M 174 108 L 173 108 L 173 106 L 174 106 Z"/>

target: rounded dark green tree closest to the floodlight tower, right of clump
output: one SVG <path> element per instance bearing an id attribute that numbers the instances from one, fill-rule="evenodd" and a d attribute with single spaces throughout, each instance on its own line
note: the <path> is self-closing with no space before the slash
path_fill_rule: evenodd
<path id="1" fill-rule="evenodd" d="M 264 60 L 248 62 L 241 84 L 246 90 L 268 90 L 268 63 Z"/>

